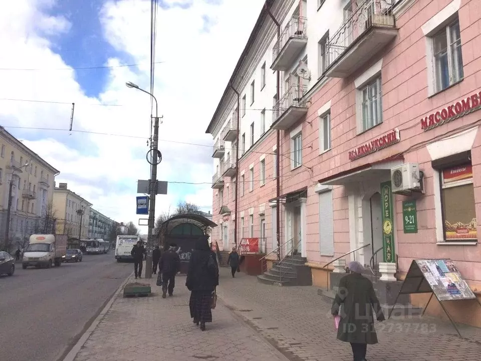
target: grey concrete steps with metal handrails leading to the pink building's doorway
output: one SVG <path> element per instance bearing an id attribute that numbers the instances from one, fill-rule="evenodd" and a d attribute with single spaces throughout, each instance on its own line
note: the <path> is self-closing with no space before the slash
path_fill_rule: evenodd
<path id="1" fill-rule="evenodd" d="M 311 268 L 307 259 L 299 255 L 288 256 L 264 274 L 257 276 L 259 282 L 276 286 L 312 286 Z"/>

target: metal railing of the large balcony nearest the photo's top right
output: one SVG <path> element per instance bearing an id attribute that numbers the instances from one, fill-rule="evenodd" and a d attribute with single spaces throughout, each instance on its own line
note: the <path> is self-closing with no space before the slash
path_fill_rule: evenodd
<path id="1" fill-rule="evenodd" d="M 392 14 L 393 0 L 366 0 L 353 3 L 352 15 L 344 21 L 339 30 L 329 39 L 326 46 L 326 67 L 336 60 L 360 37 L 372 28 L 395 28 Z"/>

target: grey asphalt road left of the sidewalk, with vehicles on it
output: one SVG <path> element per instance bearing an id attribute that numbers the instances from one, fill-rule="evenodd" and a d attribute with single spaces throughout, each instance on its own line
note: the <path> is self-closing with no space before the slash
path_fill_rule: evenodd
<path id="1" fill-rule="evenodd" d="M 57 361 L 77 342 L 125 278 L 132 263 L 113 252 L 79 263 L 0 276 L 0 360 Z"/>

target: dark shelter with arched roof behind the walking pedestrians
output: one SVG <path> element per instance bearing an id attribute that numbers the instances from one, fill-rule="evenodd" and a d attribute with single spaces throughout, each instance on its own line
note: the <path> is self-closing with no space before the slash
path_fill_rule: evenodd
<path id="1" fill-rule="evenodd" d="M 162 250 L 167 250 L 169 244 L 177 245 L 180 257 L 180 273 L 186 274 L 190 256 L 199 239 L 209 242 L 210 230 L 217 225 L 198 214 L 181 214 L 170 217 L 160 226 L 158 243 Z"/>

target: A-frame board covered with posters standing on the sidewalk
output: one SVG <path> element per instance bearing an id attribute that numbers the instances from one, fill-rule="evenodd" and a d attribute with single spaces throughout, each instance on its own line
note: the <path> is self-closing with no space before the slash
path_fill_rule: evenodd
<path id="1" fill-rule="evenodd" d="M 399 293 L 431 292 L 439 301 L 476 298 L 450 259 L 412 261 Z"/>

